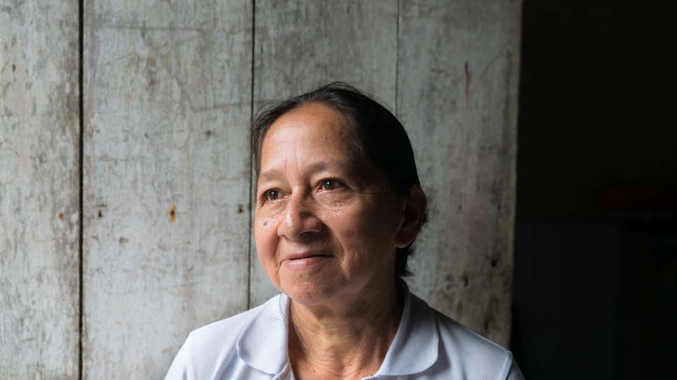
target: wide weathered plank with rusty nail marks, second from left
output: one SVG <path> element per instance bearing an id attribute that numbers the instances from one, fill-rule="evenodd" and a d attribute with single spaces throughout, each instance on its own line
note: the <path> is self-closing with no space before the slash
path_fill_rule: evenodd
<path id="1" fill-rule="evenodd" d="M 86 1 L 86 379 L 247 307 L 251 1 Z"/>

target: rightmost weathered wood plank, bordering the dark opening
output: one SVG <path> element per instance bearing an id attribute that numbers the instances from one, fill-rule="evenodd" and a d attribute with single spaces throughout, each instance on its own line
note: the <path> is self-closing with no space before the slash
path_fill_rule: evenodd
<path id="1" fill-rule="evenodd" d="M 416 289 L 507 346 L 521 1 L 401 1 L 397 110 L 430 197 Z"/>

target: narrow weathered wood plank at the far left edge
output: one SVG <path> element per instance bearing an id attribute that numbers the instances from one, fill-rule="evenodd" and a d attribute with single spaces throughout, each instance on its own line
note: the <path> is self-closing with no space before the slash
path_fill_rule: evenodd
<path id="1" fill-rule="evenodd" d="M 0 0 L 0 379 L 77 379 L 76 1 Z"/>

